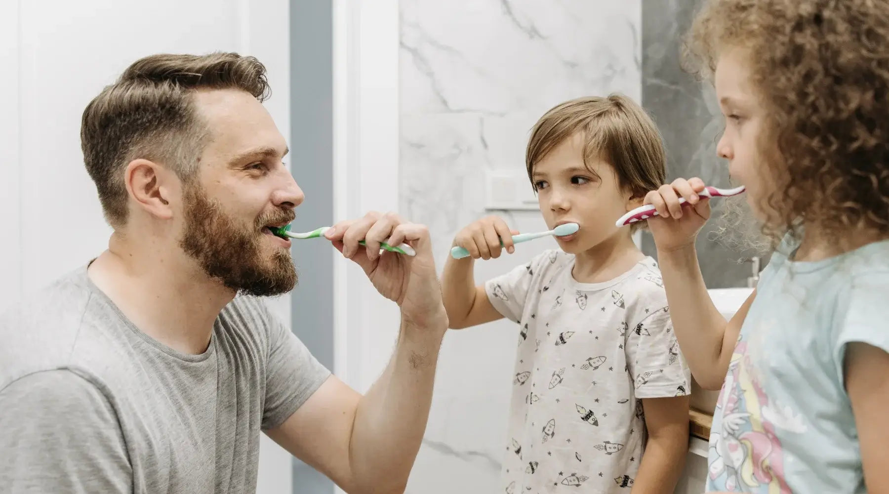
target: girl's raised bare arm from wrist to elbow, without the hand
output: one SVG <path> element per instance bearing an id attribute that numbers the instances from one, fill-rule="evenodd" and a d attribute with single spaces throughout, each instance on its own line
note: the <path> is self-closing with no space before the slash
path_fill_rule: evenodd
<path id="1" fill-rule="evenodd" d="M 692 375 L 704 389 L 719 389 L 728 372 L 741 324 L 757 291 L 744 301 L 728 323 L 710 299 L 697 252 L 690 245 L 658 251 L 670 317 Z"/>

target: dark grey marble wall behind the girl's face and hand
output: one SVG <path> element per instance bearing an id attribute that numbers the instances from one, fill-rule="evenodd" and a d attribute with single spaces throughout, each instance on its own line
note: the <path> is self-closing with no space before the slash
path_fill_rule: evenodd
<path id="1" fill-rule="evenodd" d="M 728 163 L 716 155 L 724 119 L 715 92 L 680 66 L 681 39 L 700 5 L 701 0 L 643 0 L 642 105 L 661 129 L 669 180 L 701 177 L 708 185 L 728 187 Z M 752 274 L 751 265 L 738 260 L 755 255 L 754 251 L 735 251 L 709 240 L 719 225 L 724 203 L 722 199 L 713 201 L 713 216 L 698 236 L 698 259 L 708 288 L 747 286 Z M 643 250 L 656 254 L 647 232 Z"/>

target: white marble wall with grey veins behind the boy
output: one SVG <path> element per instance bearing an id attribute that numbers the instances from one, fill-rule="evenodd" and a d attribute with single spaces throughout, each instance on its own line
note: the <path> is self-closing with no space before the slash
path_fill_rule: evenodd
<path id="1" fill-rule="evenodd" d="M 457 231 L 489 214 L 485 173 L 524 174 L 543 112 L 609 92 L 641 100 L 641 1 L 402 0 L 400 13 L 400 209 L 429 226 L 441 268 Z M 536 211 L 501 214 L 521 231 L 545 227 Z M 554 247 L 479 262 L 477 281 Z M 449 332 L 407 492 L 501 490 L 517 332 L 508 321 Z"/>

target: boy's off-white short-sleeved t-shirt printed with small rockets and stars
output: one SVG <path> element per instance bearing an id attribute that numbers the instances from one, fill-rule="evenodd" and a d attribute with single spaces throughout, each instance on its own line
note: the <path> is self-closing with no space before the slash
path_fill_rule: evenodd
<path id="1" fill-rule="evenodd" d="M 595 284 L 572 267 L 546 251 L 485 286 L 518 322 L 500 492 L 629 493 L 644 454 L 640 400 L 689 387 L 654 260 Z"/>

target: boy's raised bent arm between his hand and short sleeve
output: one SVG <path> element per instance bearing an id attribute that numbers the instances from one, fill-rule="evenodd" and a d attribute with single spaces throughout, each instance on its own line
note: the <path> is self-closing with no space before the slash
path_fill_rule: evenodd
<path id="1" fill-rule="evenodd" d="M 474 259 L 448 256 L 442 273 L 442 298 L 445 300 L 450 327 L 461 330 L 490 323 L 503 317 L 488 299 L 485 285 L 476 286 L 472 269 Z"/>

